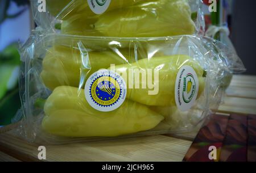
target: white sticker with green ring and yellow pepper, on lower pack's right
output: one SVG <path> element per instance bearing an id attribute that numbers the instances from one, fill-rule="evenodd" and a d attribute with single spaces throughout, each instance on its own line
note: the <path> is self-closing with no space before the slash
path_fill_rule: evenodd
<path id="1" fill-rule="evenodd" d="M 188 65 L 180 67 L 175 82 L 175 102 L 181 111 L 188 111 L 197 98 L 199 82 L 195 70 Z"/>

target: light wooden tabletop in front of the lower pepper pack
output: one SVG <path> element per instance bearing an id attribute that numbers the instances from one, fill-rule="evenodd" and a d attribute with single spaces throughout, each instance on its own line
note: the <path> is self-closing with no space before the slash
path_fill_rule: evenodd
<path id="1" fill-rule="evenodd" d="M 0 134 L 0 147 L 22 161 L 39 161 L 38 146 L 9 133 Z M 47 161 L 181 161 L 192 141 L 155 135 L 109 141 L 46 145 Z"/>

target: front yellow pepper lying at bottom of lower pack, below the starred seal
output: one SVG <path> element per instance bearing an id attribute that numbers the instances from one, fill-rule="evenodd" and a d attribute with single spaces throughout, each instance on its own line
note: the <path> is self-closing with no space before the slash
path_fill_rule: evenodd
<path id="1" fill-rule="evenodd" d="M 67 137 L 119 136 L 154 128 L 163 116 L 128 99 L 111 112 L 100 112 L 85 100 L 84 90 L 55 88 L 44 104 L 46 132 Z"/>

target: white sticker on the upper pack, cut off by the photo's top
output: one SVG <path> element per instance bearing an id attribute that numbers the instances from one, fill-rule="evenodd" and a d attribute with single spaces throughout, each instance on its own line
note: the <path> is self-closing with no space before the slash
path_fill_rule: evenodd
<path id="1" fill-rule="evenodd" d="M 102 14 L 108 9 L 111 0 L 87 0 L 87 2 L 90 10 L 95 14 Z"/>

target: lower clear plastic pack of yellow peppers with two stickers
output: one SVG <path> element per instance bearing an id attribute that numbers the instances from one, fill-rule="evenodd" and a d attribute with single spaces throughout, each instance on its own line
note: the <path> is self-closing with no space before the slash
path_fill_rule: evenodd
<path id="1" fill-rule="evenodd" d="M 19 135 L 51 144 L 188 132 L 220 103 L 225 73 L 244 70 L 202 36 L 35 33 L 21 54 Z"/>

